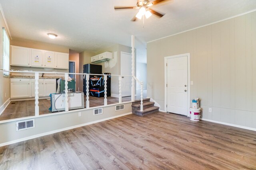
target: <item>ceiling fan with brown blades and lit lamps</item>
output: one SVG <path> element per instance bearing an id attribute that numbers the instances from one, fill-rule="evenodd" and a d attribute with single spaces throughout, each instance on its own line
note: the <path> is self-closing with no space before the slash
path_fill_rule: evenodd
<path id="1" fill-rule="evenodd" d="M 168 1 L 168 0 L 154 0 L 150 2 L 149 0 L 138 0 L 137 6 L 114 6 L 115 10 L 123 10 L 123 9 L 140 9 L 139 12 L 132 18 L 131 21 L 136 21 L 137 19 L 141 19 L 142 16 L 146 18 L 149 18 L 152 16 L 152 14 L 158 16 L 161 18 L 164 16 L 164 14 L 161 14 L 159 12 L 156 12 L 155 10 L 152 10 L 152 6 L 159 4 L 161 2 Z"/>

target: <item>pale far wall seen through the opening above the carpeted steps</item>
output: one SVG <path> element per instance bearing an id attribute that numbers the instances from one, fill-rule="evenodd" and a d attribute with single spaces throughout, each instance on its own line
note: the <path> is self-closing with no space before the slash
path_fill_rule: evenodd
<path id="1" fill-rule="evenodd" d="M 147 64 L 146 63 L 136 63 L 136 77 L 140 80 L 143 81 L 143 88 L 147 88 Z M 136 86 L 137 89 L 140 89 L 140 84 L 137 83 Z"/>

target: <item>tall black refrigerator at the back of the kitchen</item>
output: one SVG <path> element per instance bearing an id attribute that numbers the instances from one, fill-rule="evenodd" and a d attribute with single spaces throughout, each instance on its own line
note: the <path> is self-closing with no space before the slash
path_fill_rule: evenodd
<path id="1" fill-rule="evenodd" d="M 83 73 L 102 74 L 102 65 L 84 64 Z M 90 75 L 90 78 L 92 77 L 93 75 Z M 86 76 L 84 76 L 84 79 L 83 79 L 83 92 L 86 95 Z"/>

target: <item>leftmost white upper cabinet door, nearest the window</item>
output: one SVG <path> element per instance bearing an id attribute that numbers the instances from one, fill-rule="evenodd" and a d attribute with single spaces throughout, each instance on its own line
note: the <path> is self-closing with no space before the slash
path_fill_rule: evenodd
<path id="1" fill-rule="evenodd" d="M 30 66 L 31 49 L 11 46 L 11 65 Z"/>

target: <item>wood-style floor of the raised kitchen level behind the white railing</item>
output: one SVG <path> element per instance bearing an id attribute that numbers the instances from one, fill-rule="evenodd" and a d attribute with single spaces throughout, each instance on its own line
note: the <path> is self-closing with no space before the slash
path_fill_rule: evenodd
<path id="1" fill-rule="evenodd" d="M 140 94 L 140 92 L 138 91 L 137 94 Z M 146 90 L 143 90 L 143 97 L 146 98 Z M 108 104 L 116 104 L 119 102 L 118 98 L 107 97 L 107 99 L 108 99 Z M 140 95 L 135 96 L 135 99 L 136 100 L 140 99 Z M 90 101 L 90 107 L 104 106 L 104 98 L 97 98 L 97 97 L 90 96 L 89 101 Z M 131 97 L 122 98 L 122 102 L 129 102 L 129 101 L 131 101 Z M 57 113 L 57 112 L 51 112 L 49 110 L 50 100 L 41 99 L 39 100 L 38 106 L 39 106 L 39 115 Z M 84 107 L 86 107 L 86 96 L 84 96 Z M 0 121 L 34 116 L 34 115 L 35 115 L 35 100 L 10 102 L 10 104 L 6 107 L 4 112 L 0 115 Z"/>

